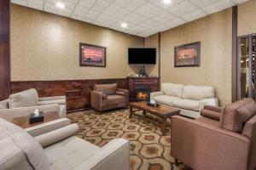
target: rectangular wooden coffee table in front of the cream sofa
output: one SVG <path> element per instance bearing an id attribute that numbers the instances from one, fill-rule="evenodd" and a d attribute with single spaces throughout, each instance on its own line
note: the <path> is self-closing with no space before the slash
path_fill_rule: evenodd
<path id="1" fill-rule="evenodd" d="M 162 119 L 162 122 L 159 123 L 159 125 L 161 127 L 161 131 L 162 131 L 163 135 L 166 135 L 166 120 L 167 120 L 167 118 L 170 118 L 171 116 L 180 114 L 180 110 L 175 109 L 171 106 L 159 105 L 158 107 L 153 107 L 153 106 L 147 105 L 146 101 L 131 102 L 129 105 L 130 105 L 130 118 L 131 118 L 133 112 L 135 112 L 135 111 L 144 111 L 144 112 L 151 113 L 154 116 L 160 117 L 160 119 Z M 133 108 L 135 108 L 137 110 L 134 111 Z M 145 116 L 143 116 L 143 117 L 146 118 Z M 152 120 L 148 119 L 148 121 L 152 121 Z M 154 122 L 154 123 L 156 123 L 156 122 Z"/>

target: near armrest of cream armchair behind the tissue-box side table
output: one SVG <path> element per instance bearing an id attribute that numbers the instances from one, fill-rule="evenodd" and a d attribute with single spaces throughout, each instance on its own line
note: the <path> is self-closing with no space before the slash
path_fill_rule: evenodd
<path id="1" fill-rule="evenodd" d="M 55 111 L 59 114 L 59 106 L 58 105 L 37 105 L 32 107 L 18 107 L 5 109 L 0 111 L 0 117 L 5 119 L 8 122 L 12 122 L 15 117 L 19 116 L 29 116 L 33 111 L 38 109 L 43 112 L 52 112 Z"/>

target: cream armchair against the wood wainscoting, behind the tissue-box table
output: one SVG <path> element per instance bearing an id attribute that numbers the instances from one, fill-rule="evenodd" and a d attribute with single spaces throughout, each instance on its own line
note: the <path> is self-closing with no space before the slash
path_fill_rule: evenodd
<path id="1" fill-rule="evenodd" d="M 56 111 L 61 118 L 66 117 L 66 96 L 39 98 L 36 89 L 32 88 L 0 102 L 0 117 L 11 118 L 25 116 L 35 109 L 39 111 Z"/>

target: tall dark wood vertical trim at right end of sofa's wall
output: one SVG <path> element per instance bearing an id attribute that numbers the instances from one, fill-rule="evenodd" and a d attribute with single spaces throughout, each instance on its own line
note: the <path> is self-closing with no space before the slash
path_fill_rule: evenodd
<path id="1" fill-rule="evenodd" d="M 237 6 L 232 7 L 232 102 L 237 100 Z"/>

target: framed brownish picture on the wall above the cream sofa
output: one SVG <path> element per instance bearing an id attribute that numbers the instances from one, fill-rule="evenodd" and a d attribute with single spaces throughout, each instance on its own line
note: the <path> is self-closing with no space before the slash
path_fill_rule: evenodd
<path id="1" fill-rule="evenodd" d="M 201 42 L 193 42 L 174 48 L 174 66 L 200 66 Z"/>

